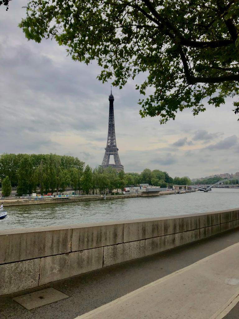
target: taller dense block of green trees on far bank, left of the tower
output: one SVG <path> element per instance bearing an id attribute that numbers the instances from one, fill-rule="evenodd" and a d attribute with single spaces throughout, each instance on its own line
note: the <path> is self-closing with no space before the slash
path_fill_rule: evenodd
<path id="1" fill-rule="evenodd" d="M 41 194 L 64 191 L 68 185 L 77 188 L 84 162 L 73 156 L 56 154 L 2 154 L 0 178 L 8 176 L 11 186 L 17 187 L 19 196 L 36 192 Z M 3 195 L 4 194 L 2 190 Z"/>

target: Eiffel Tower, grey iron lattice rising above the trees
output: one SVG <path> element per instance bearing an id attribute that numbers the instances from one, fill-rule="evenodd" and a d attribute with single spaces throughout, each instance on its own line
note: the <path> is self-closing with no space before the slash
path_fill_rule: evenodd
<path id="1" fill-rule="evenodd" d="M 124 170 L 124 167 L 120 163 L 120 157 L 118 154 L 119 149 L 116 146 L 115 129 L 114 129 L 114 96 L 112 94 L 112 89 L 109 95 L 109 101 L 110 101 L 110 108 L 109 108 L 108 137 L 107 137 L 107 143 L 105 147 L 105 155 L 104 155 L 101 167 L 103 168 L 113 167 L 114 169 L 117 170 L 117 172 L 120 172 L 121 170 Z M 111 155 L 114 157 L 114 164 L 109 164 Z"/>

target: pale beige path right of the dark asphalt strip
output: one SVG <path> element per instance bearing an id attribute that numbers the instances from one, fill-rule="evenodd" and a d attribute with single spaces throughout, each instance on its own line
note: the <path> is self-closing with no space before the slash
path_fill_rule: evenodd
<path id="1" fill-rule="evenodd" d="M 77 319 L 215 319 L 223 318 L 236 301 L 239 301 L 239 243 Z"/>

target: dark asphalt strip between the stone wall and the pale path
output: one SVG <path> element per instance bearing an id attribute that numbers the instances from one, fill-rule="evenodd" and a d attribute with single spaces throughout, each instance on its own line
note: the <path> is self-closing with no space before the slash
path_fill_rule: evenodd
<path id="1" fill-rule="evenodd" d="M 238 242 L 239 231 L 237 229 L 154 256 L 47 284 L 44 287 L 54 287 L 69 295 L 70 298 L 32 310 L 26 310 L 12 300 L 12 297 L 22 293 L 2 297 L 0 298 L 0 318 L 73 319 Z M 36 288 L 35 291 L 40 288 Z M 24 293 L 32 291 L 34 289 Z M 236 305 L 225 319 L 238 319 L 238 309 Z M 118 314 L 112 319 L 114 318 L 118 318 Z M 172 316 L 171 319 L 176 319 L 176 317 Z M 184 317 L 184 319 L 189 319 L 189 317 Z"/>

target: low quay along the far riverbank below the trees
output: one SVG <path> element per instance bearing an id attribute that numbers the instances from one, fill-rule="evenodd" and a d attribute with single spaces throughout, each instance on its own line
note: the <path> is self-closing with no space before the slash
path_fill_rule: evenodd
<path id="1" fill-rule="evenodd" d="M 197 190 L 168 190 L 159 192 L 142 192 L 141 194 L 129 194 L 129 195 L 81 195 L 79 197 L 24 197 L 11 199 L 0 199 L 4 206 L 21 206 L 21 205 L 40 205 L 40 204 L 62 204 L 62 203 L 74 203 L 74 202 L 88 202 L 95 200 L 109 200 L 109 199 L 122 199 L 122 198 L 134 198 L 134 197 L 147 197 L 147 196 L 163 196 L 163 195 L 174 195 L 191 193 Z"/>

